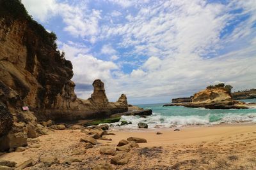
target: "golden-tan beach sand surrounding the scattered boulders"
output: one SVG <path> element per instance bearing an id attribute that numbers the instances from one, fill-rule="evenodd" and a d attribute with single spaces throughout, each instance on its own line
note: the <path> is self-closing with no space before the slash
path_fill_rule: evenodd
<path id="1" fill-rule="evenodd" d="M 110 130 L 116 135 L 106 136 L 112 141 L 99 140 L 99 145 L 76 155 L 83 162 L 71 165 L 54 164 L 44 167 L 36 164 L 27 169 L 92 169 L 97 164 L 109 163 L 111 155 L 100 155 L 104 145 L 116 146 L 120 139 L 131 136 L 145 138 L 147 143 L 139 143 L 139 148 L 129 152 L 131 159 L 124 166 L 112 165 L 113 169 L 256 169 L 256 124 L 218 125 L 213 127 L 188 127 L 154 130 Z M 163 134 L 157 135 L 156 132 Z M 6 153 L 0 159 L 13 160 L 18 164 L 29 158 L 37 161 L 42 155 L 55 154 L 60 162 L 79 150 L 85 136 L 79 130 L 55 131 L 40 136 L 39 141 L 29 142 L 24 152 Z M 36 146 L 38 148 L 33 148 Z M 32 147 L 31 147 L 32 146 Z"/>

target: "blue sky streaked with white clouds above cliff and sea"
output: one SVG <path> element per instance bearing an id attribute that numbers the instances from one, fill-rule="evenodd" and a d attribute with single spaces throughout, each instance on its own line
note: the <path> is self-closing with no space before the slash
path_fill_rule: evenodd
<path id="1" fill-rule="evenodd" d="M 22 0 L 73 64 L 78 97 L 168 103 L 224 82 L 256 87 L 255 0 Z"/>

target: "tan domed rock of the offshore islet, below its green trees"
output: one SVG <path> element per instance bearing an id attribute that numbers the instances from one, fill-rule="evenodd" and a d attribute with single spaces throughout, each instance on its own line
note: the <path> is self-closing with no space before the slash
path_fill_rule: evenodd
<path id="1" fill-rule="evenodd" d="M 212 87 L 194 94 L 191 102 L 172 103 L 164 106 L 186 106 L 190 108 L 208 109 L 240 109 L 247 108 L 244 103 L 234 101 L 230 93 L 224 87 Z"/>

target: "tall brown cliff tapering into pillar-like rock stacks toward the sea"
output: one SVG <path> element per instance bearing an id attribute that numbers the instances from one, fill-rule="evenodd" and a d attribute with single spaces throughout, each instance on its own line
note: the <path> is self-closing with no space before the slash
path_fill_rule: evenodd
<path id="1" fill-rule="evenodd" d="M 0 150 L 26 146 L 29 129 L 41 120 L 108 117 L 128 110 L 127 101 L 109 103 L 100 80 L 93 82 L 90 99 L 78 99 L 70 80 L 72 63 L 55 41 L 19 0 L 0 0 Z"/>

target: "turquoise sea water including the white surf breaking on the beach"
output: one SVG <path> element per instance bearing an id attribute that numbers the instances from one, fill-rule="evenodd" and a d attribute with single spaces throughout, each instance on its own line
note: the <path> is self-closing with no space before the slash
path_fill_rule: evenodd
<path id="1" fill-rule="evenodd" d="M 256 103 L 256 99 L 243 100 L 246 103 Z M 184 127 L 195 125 L 256 123 L 256 108 L 209 110 L 205 108 L 186 108 L 184 106 L 167 106 L 163 104 L 137 105 L 143 109 L 152 109 L 149 117 L 122 116 L 121 121 L 132 122 L 122 127 L 138 128 L 139 122 L 148 124 L 148 128 L 158 127 Z M 120 123 L 119 122 L 119 123 Z"/>

